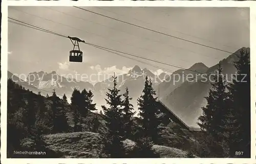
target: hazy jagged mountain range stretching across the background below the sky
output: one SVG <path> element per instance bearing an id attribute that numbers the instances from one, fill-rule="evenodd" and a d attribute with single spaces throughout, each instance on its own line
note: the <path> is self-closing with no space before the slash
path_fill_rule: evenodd
<path id="1" fill-rule="evenodd" d="M 241 48 L 240 50 L 242 49 L 250 51 L 250 48 Z M 230 75 L 236 72 L 233 62 L 238 60 L 236 54 L 239 54 L 240 50 L 220 61 L 223 67 L 223 74 Z M 206 105 L 204 97 L 207 96 L 211 85 L 207 82 L 191 82 L 186 80 L 179 80 L 174 83 L 173 79 L 177 75 L 190 74 L 195 77 L 200 74 L 211 74 L 217 68 L 218 63 L 211 67 L 207 67 L 203 63 L 195 63 L 188 69 L 178 69 L 171 75 L 161 73 L 159 76 L 156 76 L 147 68 L 141 69 L 136 65 L 127 74 L 117 76 L 117 86 L 121 90 L 121 93 L 124 93 L 126 87 L 129 88 L 130 97 L 133 98 L 131 103 L 137 109 L 137 98 L 142 93 L 144 78 L 148 76 L 152 79 L 153 87 L 157 91 L 157 97 L 159 96 L 159 99 L 167 107 L 172 109 L 188 126 L 196 127 L 197 118 L 202 113 L 201 107 Z M 8 71 L 8 78 L 12 78 L 16 83 L 23 85 L 26 89 L 35 93 L 40 91 L 41 95 L 44 96 L 47 93 L 51 95 L 51 92 L 55 89 L 57 96 L 62 97 L 65 93 L 69 99 L 74 88 L 79 90 L 84 88 L 87 90 L 90 89 L 94 93 L 94 103 L 98 105 L 105 105 L 105 92 L 113 86 L 113 78 L 97 82 L 93 85 L 89 82 L 61 77 L 55 71 L 51 73 L 45 73 L 43 71 L 32 72 L 28 75 L 26 81 L 19 79 Z"/>

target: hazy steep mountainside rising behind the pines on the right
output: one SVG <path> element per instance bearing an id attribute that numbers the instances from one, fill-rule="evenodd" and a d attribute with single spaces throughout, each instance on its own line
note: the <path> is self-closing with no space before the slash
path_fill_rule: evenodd
<path id="1" fill-rule="evenodd" d="M 236 68 L 233 66 L 233 62 L 238 60 L 236 54 L 240 54 L 240 51 L 250 51 L 250 48 L 241 48 L 234 52 L 226 59 L 220 61 L 223 68 L 223 74 L 228 75 L 228 80 L 232 75 L 236 73 Z M 207 74 L 214 73 L 218 68 L 218 64 L 209 67 L 205 72 Z M 169 85 L 168 87 L 172 87 Z M 166 87 L 165 87 L 166 88 Z M 206 105 L 205 96 L 208 95 L 208 91 L 211 85 L 207 82 L 183 82 L 176 86 L 172 92 L 162 97 L 162 102 L 173 109 L 173 111 L 183 120 L 188 126 L 198 127 L 198 117 L 201 115 L 201 107 Z"/>

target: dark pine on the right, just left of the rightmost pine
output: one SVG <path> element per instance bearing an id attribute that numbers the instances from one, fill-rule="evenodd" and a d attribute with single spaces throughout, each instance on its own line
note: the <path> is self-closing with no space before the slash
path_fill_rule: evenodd
<path id="1" fill-rule="evenodd" d="M 227 108 L 227 92 L 224 77 L 222 75 L 222 68 L 219 64 L 217 74 L 214 76 L 214 83 L 212 89 L 209 90 L 209 96 L 206 97 L 207 105 L 202 107 L 203 114 L 199 116 L 201 123 L 198 125 L 201 129 L 212 138 L 208 143 L 212 155 L 223 157 L 223 150 L 221 142 L 223 140 L 223 133 L 226 121 Z"/>

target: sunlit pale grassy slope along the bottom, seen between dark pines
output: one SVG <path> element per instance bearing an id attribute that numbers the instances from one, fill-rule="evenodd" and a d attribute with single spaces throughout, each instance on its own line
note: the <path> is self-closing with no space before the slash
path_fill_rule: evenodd
<path id="1" fill-rule="evenodd" d="M 93 132 L 75 132 L 59 133 L 45 136 L 49 148 L 63 153 L 65 158 L 98 158 L 102 149 L 100 136 Z M 134 142 L 126 139 L 124 141 L 125 149 L 132 149 Z M 165 146 L 154 145 L 154 151 L 160 154 L 160 157 L 182 158 L 186 152 Z"/>

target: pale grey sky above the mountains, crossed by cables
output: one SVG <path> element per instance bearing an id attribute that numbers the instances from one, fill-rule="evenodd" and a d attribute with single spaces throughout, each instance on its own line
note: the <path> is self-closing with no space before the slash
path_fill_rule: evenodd
<path id="1" fill-rule="evenodd" d="M 250 45 L 249 8 L 81 8 L 228 52 Z M 212 66 L 230 55 L 75 7 L 9 6 L 8 16 L 89 43 L 184 68 L 197 62 Z M 169 72 L 179 69 L 132 57 L 147 64 L 140 63 L 87 44 L 80 44 L 83 62 L 72 63 L 69 62 L 72 49 L 68 38 L 8 22 L 8 70 L 14 74 L 39 71 L 56 71 L 59 75 L 123 74 L 135 65 L 154 73 L 163 72 L 147 64 L 163 67 Z"/>

